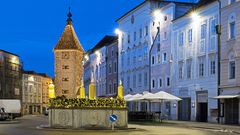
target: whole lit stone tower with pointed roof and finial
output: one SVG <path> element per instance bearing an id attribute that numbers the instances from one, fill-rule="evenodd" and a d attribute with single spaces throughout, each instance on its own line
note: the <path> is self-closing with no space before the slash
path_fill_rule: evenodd
<path id="1" fill-rule="evenodd" d="M 72 14 L 68 13 L 65 29 L 54 48 L 56 96 L 76 98 L 83 75 L 84 49 L 72 25 Z"/>

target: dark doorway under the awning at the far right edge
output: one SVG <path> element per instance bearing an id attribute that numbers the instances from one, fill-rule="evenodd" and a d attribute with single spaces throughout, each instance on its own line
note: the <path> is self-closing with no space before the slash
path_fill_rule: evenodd
<path id="1" fill-rule="evenodd" d="M 225 108 L 225 123 L 239 124 L 239 99 L 226 99 Z"/>

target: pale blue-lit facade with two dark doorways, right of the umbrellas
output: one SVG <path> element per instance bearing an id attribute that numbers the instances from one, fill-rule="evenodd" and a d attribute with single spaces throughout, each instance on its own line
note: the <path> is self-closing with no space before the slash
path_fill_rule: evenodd
<path id="1" fill-rule="evenodd" d="M 217 122 L 217 33 L 219 4 L 201 0 L 172 27 L 173 91 L 182 101 L 173 103 L 178 120 Z"/>

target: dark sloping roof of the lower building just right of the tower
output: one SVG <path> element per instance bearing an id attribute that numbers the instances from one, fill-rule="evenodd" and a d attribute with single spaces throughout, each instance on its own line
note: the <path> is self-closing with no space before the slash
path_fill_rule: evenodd
<path id="1" fill-rule="evenodd" d="M 94 52 L 95 50 L 102 48 L 103 46 L 111 45 L 112 43 L 117 42 L 117 41 L 118 41 L 117 36 L 107 35 L 91 49 L 91 52 Z"/>

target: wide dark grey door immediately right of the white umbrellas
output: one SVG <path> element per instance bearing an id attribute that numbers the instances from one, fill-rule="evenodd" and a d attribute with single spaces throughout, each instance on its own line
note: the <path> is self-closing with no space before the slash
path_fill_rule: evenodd
<path id="1" fill-rule="evenodd" d="M 191 98 L 182 98 L 178 102 L 178 120 L 191 120 Z"/>

